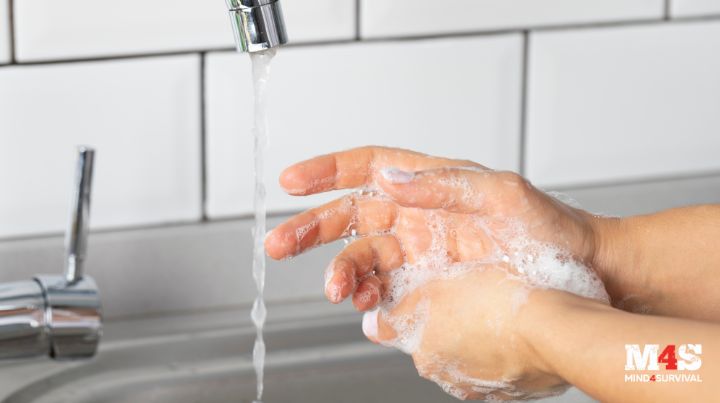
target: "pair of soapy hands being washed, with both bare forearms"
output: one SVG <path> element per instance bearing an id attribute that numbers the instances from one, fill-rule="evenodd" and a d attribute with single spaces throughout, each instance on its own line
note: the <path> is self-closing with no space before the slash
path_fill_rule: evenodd
<path id="1" fill-rule="evenodd" d="M 720 362 L 720 326 L 701 322 L 720 320 L 720 253 L 708 242 L 720 238 L 718 206 L 595 217 L 515 173 L 379 147 L 295 164 L 280 184 L 297 196 L 375 190 L 290 218 L 268 234 L 267 253 L 283 259 L 356 232 L 327 269 L 326 296 L 370 311 L 370 340 L 411 353 L 421 376 L 459 398 L 533 398 L 567 383 L 603 401 L 712 401 L 720 393 L 713 381 L 628 385 L 622 365 L 629 341 L 702 343 L 703 362 Z M 539 245 L 596 270 L 617 307 L 698 321 L 537 287 L 522 257 L 538 256 Z M 422 281 L 398 293 L 398 278 Z M 414 334 L 403 324 L 420 329 L 415 344 L 403 340 Z M 698 374 L 713 379 L 720 367 L 704 364 Z"/>

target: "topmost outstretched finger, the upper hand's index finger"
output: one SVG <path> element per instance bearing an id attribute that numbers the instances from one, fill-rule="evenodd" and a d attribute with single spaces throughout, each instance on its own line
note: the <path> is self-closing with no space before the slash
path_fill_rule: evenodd
<path id="1" fill-rule="evenodd" d="M 280 186 L 291 195 L 303 196 L 370 184 L 377 172 L 387 166 L 419 171 L 467 165 L 479 166 L 471 161 L 436 158 L 396 148 L 362 147 L 294 164 L 280 175 Z"/>

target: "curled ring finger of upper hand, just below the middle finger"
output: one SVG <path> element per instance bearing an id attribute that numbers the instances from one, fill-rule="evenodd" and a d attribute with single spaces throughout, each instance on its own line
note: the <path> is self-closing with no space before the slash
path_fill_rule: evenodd
<path id="1" fill-rule="evenodd" d="M 325 296 L 338 304 L 355 288 L 357 279 L 385 273 L 403 264 L 398 240 L 391 235 L 361 238 L 342 250 L 325 272 Z"/>

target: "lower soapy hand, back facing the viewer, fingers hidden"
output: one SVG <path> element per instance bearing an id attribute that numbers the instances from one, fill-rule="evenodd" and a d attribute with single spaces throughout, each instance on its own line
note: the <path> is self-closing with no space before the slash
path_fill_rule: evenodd
<path id="1" fill-rule="evenodd" d="M 459 399 L 538 399 L 568 385 L 534 348 L 528 329 L 538 323 L 523 309 L 529 298 L 566 304 L 553 291 L 508 278 L 506 267 L 478 265 L 366 313 L 363 331 L 412 355 L 421 377 Z"/>

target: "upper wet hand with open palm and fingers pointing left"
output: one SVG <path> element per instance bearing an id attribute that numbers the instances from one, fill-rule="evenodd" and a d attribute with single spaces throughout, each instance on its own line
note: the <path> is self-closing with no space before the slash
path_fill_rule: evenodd
<path id="1" fill-rule="evenodd" d="M 533 239 L 559 245 L 587 265 L 596 249 L 593 216 L 538 191 L 515 173 L 471 161 L 365 147 L 295 164 L 282 173 L 280 184 L 296 196 L 373 186 L 388 196 L 346 195 L 292 217 L 265 241 L 270 257 L 284 259 L 360 236 L 329 266 L 325 291 L 334 303 L 353 295 L 363 311 L 381 295 L 382 282 L 373 273 L 413 262 L 431 246 L 437 229 L 428 225 L 428 210 L 449 224 L 442 231 L 452 261 L 483 259 L 498 247 L 508 252 L 510 245 L 502 238 L 513 225 L 525 225 Z M 478 229 L 477 217 L 489 227 Z"/>

